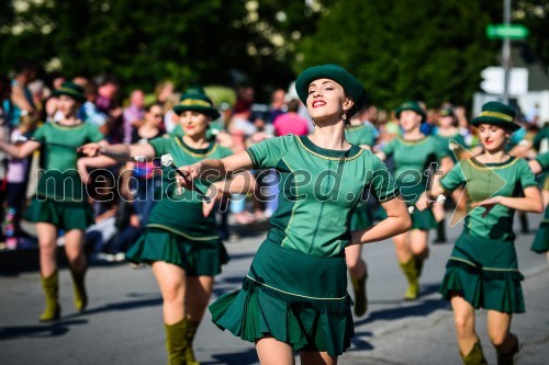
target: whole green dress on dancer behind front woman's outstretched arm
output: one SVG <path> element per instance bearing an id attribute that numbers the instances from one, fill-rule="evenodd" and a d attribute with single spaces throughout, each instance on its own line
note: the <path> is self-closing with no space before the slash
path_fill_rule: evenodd
<path id="1" fill-rule="evenodd" d="M 195 149 L 179 137 L 155 138 L 149 144 L 157 157 L 170 153 L 177 167 L 232 155 L 229 149 L 216 142 Z M 184 190 L 178 194 L 176 175 L 176 171 L 163 167 L 161 191 L 155 193 L 157 203 L 150 210 L 144 233 L 127 251 L 126 258 L 136 263 L 168 262 L 182 267 L 189 276 L 214 276 L 228 261 L 217 235 L 215 212 L 204 217 L 202 198 L 194 191 Z M 195 181 L 203 192 L 210 183 Z"/>

